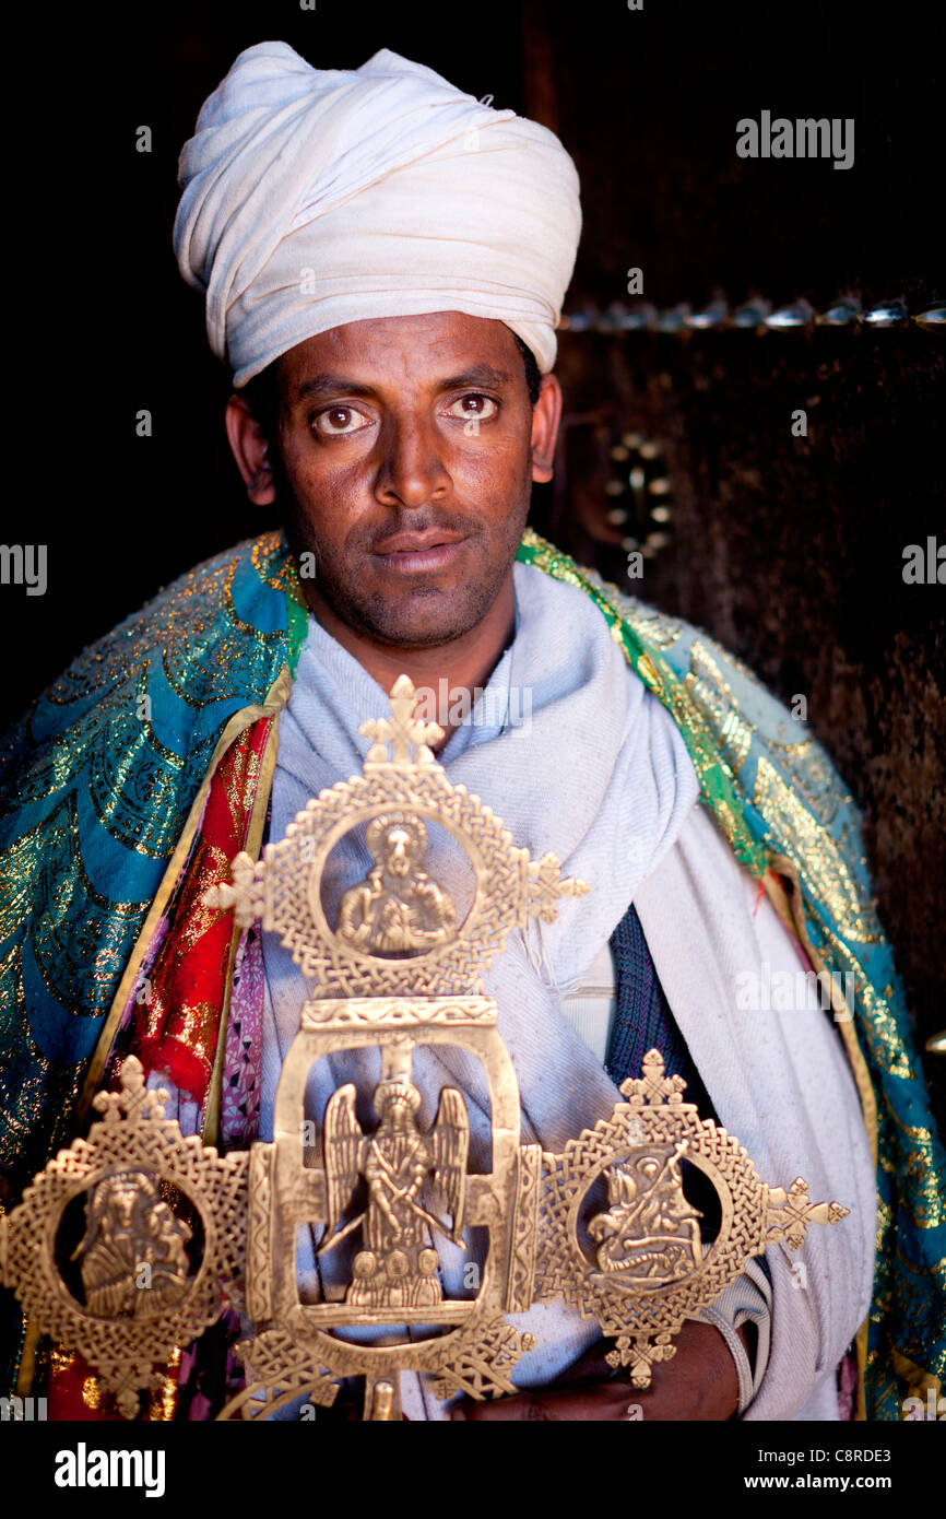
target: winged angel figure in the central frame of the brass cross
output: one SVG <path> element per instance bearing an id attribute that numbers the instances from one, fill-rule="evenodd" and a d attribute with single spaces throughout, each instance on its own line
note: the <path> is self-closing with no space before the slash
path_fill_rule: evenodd
<path id="1" fill-rule="evenodd" d="M 380 1124 L 371 1136 L 363 1133 L 355 1116 L 351 1083 L 333 1092 L 325 1109 L 328 1226 L 319 1253 L 361 1226 L 363 1249 L 352 1261 L 345 1300 L 361 1308 L 431 1308 L 442 1294 L 440 1258 L 428 1243 L 428 1230 L 465 1247 L 466 1107 L 460 1092 L 445 1086 L 436 1121 L 425 1135 L 416 1121 L 421 1094 L 405 1077 L 380 1082 L 374 1103 Z M 342 1224 L 358 1177 L 367 1185 L 367 1203 Z M 421 1203 L 428 1177 L 446 1198 L 451 1226 Z"/>

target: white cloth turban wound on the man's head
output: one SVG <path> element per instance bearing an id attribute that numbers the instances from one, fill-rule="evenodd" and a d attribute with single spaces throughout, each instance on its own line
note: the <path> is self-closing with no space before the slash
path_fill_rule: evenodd
<path id="1" fill-rule="evenodd" d="M 179 164 L 175 252 L 243 386 L 307 337 L 366 317 L 506 322 L 539 369 L 582 229 L 557 137 L 383 49 L 311 68 L 248 47 L 205 100 Z"/>

